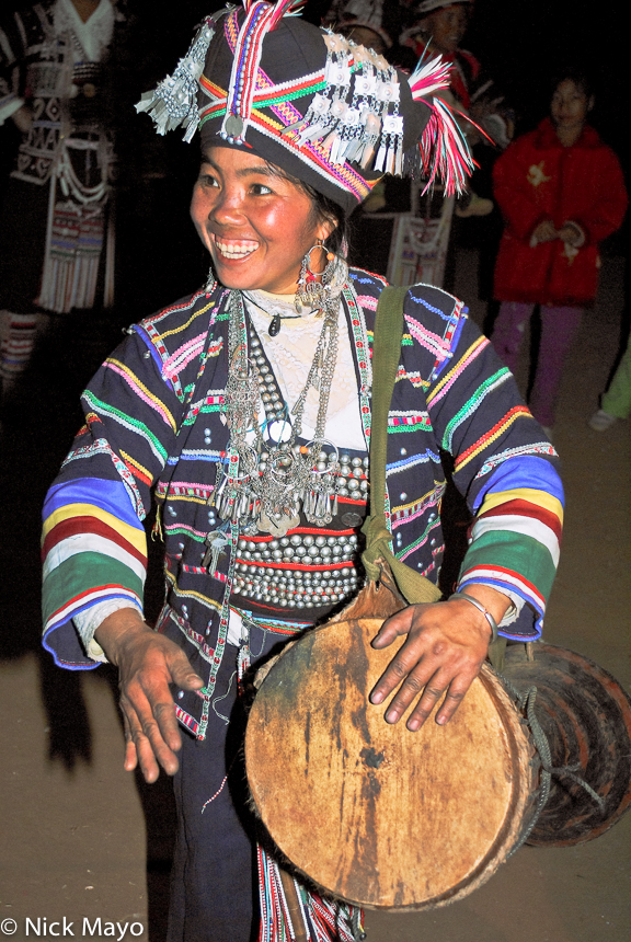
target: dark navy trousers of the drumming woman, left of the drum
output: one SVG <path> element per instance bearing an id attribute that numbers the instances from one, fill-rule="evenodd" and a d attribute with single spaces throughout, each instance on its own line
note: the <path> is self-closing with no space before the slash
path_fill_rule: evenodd
<path id="1" fill-rule="evenodd" d="M 278 635 L 253 629 L 252 663 L 276 653 L 285 641 L 279 644 Z M 168 942 L 251 942 L 259 934 L 259 826 L 248 807 L 238 653 L 238 647 L 226 645 L 206 739 L 183 732 L 173 781 L 177 834 Z"/>

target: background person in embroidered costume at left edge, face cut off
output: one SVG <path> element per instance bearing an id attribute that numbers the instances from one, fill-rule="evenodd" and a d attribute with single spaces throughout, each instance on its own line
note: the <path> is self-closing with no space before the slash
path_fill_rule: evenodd
<path id="1" fill-rule="evenodd" d="M 49 315 L 114 300 L 107 60 L 117 18 L 111 0 L 54 0 L 0 20 L 0 125 L 22 133 L 1 207 L 5 391 Z"/>

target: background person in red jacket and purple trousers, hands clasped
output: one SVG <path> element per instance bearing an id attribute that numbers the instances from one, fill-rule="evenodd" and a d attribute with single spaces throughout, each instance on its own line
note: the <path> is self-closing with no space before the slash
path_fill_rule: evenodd
<path id="1" fill-rule="evenodd" d="M 497 160 L 495 198 L 506 223 L 495 265 L 502 301 L 493 345 L 506 366 L 536 305 L 541 342 L 530 409 L 548 429 L 565 355 L 598 287 L 598 245 L 622 223 L 627 191 L 613 151 L 587 124 L 594 105 L 586 79 L 566 72 L 554 84 L 550 117 Z"/>

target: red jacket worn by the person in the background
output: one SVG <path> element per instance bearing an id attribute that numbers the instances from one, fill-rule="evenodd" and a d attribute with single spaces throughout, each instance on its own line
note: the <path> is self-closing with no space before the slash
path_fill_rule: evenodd
<path id="1" fill-rule="evenodd" d="M 598 287 L 598 243 L 619 229 L 627 209 L 622 170 L 613 151 L 585 125 L 572 147 L 563 147 L 550 118 L 517 138 L 495 163 L 495 198 L 506 228 L 495 265 L 501 301 L 584 305 Z M 530 246 L 539 222 L 555 229 L 576 222 L 585 233 L 580 249 L 560 239 Z"/>

